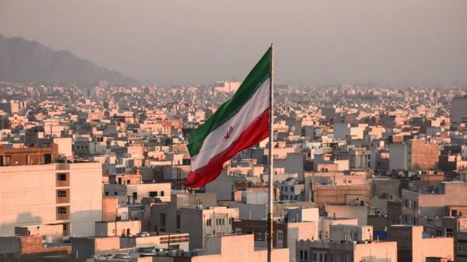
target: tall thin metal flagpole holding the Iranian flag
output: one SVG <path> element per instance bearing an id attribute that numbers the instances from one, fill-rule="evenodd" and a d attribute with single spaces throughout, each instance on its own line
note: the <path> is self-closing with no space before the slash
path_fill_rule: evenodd
<path id="1" fill-rule="evenodd" d="M 269 150 L 267 152 L 267 165 L 269 166 L 269 181 L 268 181 L 268 203 L 267 203 L 267 262 L 271 262 L 272 256 L 272 241 L 274 239 L 273 230 L 272 230 L 272 198 L 273 198 L 273 187 L 272 187 L 272 175 L 273 175 L 273 159 L 272 159 L 272 135 L 274 131 L 272 130 L 272 119 L 274 115 L 274 48 L 271 44 L 271 78 L 270 78 L 270 86 L 269 86 Z"/>

